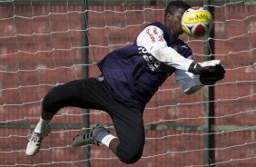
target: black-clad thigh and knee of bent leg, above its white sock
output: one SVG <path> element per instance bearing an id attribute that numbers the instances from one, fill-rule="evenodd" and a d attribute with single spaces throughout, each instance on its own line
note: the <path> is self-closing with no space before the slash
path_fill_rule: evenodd
<path id="1" fill-rule="evenodd" d="M 113 116 L 113 125 L 118 139 L 110 142 L 110 149 L 125 163 L 134 163 L 141 159 L 145 134 L 143 113 L 129 108 L 117 108 Z"/>

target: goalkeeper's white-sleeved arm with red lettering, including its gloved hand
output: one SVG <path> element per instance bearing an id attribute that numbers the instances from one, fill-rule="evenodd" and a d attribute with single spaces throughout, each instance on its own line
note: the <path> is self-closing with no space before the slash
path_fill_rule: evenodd
<path id="1" fill-rule="evenodd" d="M 203 74 L 205 72 L 214 71 L 216 64 L 220 64 L 220 61 L 210 61 L 199 64 L 193 63 L 192 59 L 183 57 L 172 47 L 168 46 L 163 38 L 162 29 L 154 25 L 145 27 L 138 35 L 136 43 L 139 46 L 143 46 L 160 62 L 192 74 Z"/>

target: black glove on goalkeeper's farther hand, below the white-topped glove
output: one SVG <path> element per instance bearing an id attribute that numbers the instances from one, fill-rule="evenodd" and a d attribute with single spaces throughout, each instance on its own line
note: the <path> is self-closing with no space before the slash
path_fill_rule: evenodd
<path id="1" fill-rule="evenodd" d="M 224 78 L 225 70 L 222 64 L 217 64 L 214 71 L 205 72 L 200 75 L 199 79 L 202 84 L 211 85 Z"/>

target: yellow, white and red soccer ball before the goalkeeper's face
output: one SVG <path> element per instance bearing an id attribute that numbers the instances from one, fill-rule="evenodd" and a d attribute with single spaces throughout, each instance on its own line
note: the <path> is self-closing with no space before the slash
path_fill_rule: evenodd
<path id="1" fill-rule="evenodd" d="M 208 36 L 212 31 L 212 25 L 212 15 L 203 7 L 189 8 L 182 15 L 182 30 L 193 38 Z"/>

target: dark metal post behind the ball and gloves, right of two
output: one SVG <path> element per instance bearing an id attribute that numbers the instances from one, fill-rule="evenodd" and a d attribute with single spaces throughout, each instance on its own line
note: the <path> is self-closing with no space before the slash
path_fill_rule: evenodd
<path id="1" fill-rule="evenodd" d="M 209 6 L 211 0 L 204 0 L 205 8 L 209 10 L 214 17 L 213 7 Z M 210 39 L 204 43 L 204 60 L 214 59 L 214 26 L 212 27 L 212 32 L 210 33 Z M 209 56 L 211 55 L 211 56 Z M 204 86 L 203 88 L 203 99 L 204 99 L 204 158 L 203 163 L 205 166 L 215 166 L 215 135 L 213 133 L 214 126 L 214 86 Z"/>

